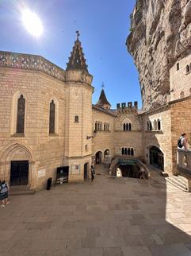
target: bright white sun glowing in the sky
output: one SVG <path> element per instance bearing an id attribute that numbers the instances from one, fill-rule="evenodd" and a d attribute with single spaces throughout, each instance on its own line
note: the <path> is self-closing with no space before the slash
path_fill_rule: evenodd
<path id="1" fill-rule="evenodd" d="M 22 22 L 29 33 L 34 37 L 40 37 L 43 33 L 43 25 L 40 18 L 29 9 L 22 11 Z"/>

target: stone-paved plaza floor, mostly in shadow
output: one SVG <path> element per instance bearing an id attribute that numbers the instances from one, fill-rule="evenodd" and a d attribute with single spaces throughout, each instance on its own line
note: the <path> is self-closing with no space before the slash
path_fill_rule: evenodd
<path id="1" fill-rule="evenodd" d="M 12 196 L 0 208 L 1 256 L 189 256 L 191 194 L 150 180 L 108 177 Z"/>

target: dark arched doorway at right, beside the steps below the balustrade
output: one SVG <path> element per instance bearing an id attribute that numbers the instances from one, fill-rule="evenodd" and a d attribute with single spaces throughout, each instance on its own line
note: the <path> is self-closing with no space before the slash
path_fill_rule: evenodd
<path id="1" fill-rule="evenodd" d="M 163 171 L 164 170 L 164 154 L 162 153 L 162 151 L 158 147 L 152 146 L 149 153 L 150 153 L 150 164 Z"/>

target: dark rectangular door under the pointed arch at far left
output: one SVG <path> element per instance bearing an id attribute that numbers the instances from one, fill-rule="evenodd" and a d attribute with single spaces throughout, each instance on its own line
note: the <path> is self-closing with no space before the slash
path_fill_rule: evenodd
<path id="1" fill-rule="evenodd" d="M 27 185 L 29 183 L 29 161 L 11 161 L 10 186 Z"/>

